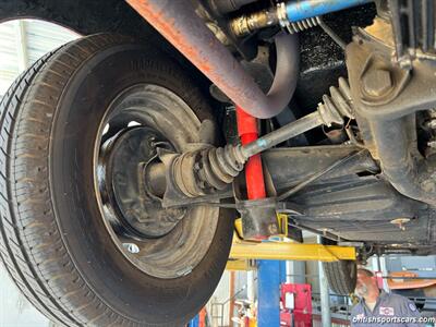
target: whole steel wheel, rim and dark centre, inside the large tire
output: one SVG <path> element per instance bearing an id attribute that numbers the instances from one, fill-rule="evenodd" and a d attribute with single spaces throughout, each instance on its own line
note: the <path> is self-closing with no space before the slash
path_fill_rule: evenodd
<path id="1" fill-rule="evenodd" d="M 201 128 L 180 96 L 137 84 L 111 101 L 94 141 L 94 186 L 106 230 L 131 265 L 155 278 L 190 274 L 220 228 L 219 208 L 161 206 L 172 181 L 157 152 L 187 152 L 202 140 Z"/>

